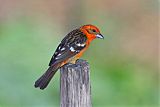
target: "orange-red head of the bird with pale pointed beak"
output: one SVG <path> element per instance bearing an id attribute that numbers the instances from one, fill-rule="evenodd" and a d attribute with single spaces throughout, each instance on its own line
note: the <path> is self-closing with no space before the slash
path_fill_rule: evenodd
<path id="1" fill-rule="evenodd" d="M 100 30 L 94 25 L 84 25 L 80 27 L 80 30 L 87 36 L 89 41 L 92 41 L 95 38 L 104 39 L 103 35 L 100 33 Z"/>

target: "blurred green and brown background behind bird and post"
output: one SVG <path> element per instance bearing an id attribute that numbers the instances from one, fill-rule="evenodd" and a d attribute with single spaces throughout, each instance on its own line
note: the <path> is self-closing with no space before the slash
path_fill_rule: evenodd
<path id="1" fill-rule="evenodd" d="M 105 36 L 83 56 L 93 107 L 158 106 L 158 0 L 0 0 L 0 107 L 59 107 L 59 72 L 44 91 L 34 82 L 84 24 Z"/>

